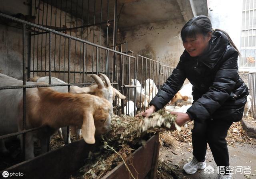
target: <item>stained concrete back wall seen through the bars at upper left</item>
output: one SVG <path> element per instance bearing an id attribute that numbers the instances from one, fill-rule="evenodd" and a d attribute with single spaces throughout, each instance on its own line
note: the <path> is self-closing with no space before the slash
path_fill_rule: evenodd
<path id="1" fill-rule="evenodd" d="M 3 12 L 7 15 L 13 15 L 17 13 L 22 13 L 24 15 L 30 14 L 30 4 L 28 2 L 23 3 L 22 0 L 10 0 L 6 3 L 4 0 L 0 0 L 0 12 Z M 36 13 L 34 14 L 34 9 L 32 9 L 32 15 L 36 16 L 35 23 L 36 24 L 44 24 L 48 26 L 55 26 L 55 14 L 56 14 L 56 27 L 65 26 L 65 12 L 61 11 L 60 9 L 52 8 L 52 24 L 50 24 L 50 5 L 48 5 L 48 14 L 46 12 L 47 4 L 36 1 Z M 35 7 L 34 1 L 32 7 Z M 44 12 L 43 12 L 44 10 Z M 44 20 L 42 20 L 44 17 Z M 46 24 L 46 17 L 47 17 L 47 24 Z M 61 17 L 61 22 L 60 22 Z M 39 21 L 38 21 L 39 18 Z M 86 22 L 84 21 L 83 24 Z M 81 26 L 82 21 L 81 19 L 74 18 L 74 15 L 71 20 L 70 14 L 66 16 L 66 28 L 72 28 L 75 26 Z M 34 30 L 34 28 L 32 28 Z M 102 30 L 100 32 L 100 28 L 98 27 L 90 27 L 84 28 L 83 31 L 81 29 L 72 30 L 71 34 L 70 31 L 63 32 L 68 35 L 76 36 L 78 38 L 82 38 L 93 42 L 106 46 L 106 35 Z M 4 24 L 0 25 L 0 73 L 4 73 L 11 77 L 22 79 L 22 30 L 6 26 Z M 94 36 L 94 39 L 93 39 Z M 61 40 L 60 40 L 61 39 Z M 101 39 L 101 43 L 100 43 Z M 56 44 L 55 44 L 56 43 Z M 110 43 L 108 43 L 110 44 Z M 31 70 L 49 70 L 49 36 L 46 34 L 43 35 L 34 35 L 31 37 Z M 87 53 L 85 53 L 85 57 L 87 58 L 86 70 L 87 71 L 94 71 L 96 72 L 96 47 L 91 45 L 85 45 L 85 51 L 87 49 Z M 65 53 L 64 53 L 65 50 Z M 81 53 L 82 51 L 82 53 Z M 28 67 L 28 57 L 29 57 L 29 33 L 26 32 L 26 67 Z M 106 69 L 106 51 L 99 50 L 100 54 L 100 67 L 98 68 L 99 71 L 105 72 Z M 71 41 L 71 71 L 80 71 L 82 70 L 82 57 L 83 57 L 83 44 L 80 42 L 75 42 L 74 40 Z M 65 63 L 64 63 L 64 56 L 65 56 Z M 55 65 L 54 65 L 55 59 Z M 85 61 L 86 63 L 86 61 Z M 64 65 L 65 64 L 65 65 Z M 99 64 L 99 63 L 98 63 Z M 65 66 L 65 68 L 64 68 Z M 92 69 L 93 66 L 93 69 Z M 60 71 L 68 71 L 68 39 L 66 39 L 66 43 L 64 37 L 60 37 L 59 35 L 52 34 L 52 70 L 60 70 Z M 112 68 L 110 68 L 110 71 Z M 45 76 L 48 73 L 34 73 L 34 75 L 38 76 Z M 31 76 L 33 74 L 31 73 Z M 53 77 L 58 77 L 64 80 L 64 75 L 58 73 L 52 73 Z M 67 75 L 65 75 L 65 80 L 67 81 Z M 71 79 L 73 81 L 79 82 L 80 75 L 71 75 Z M 90 77 L 87 78 L 87 82 L 90 81 Z M 71 80 L 72 82 L 72 80 Z"/>

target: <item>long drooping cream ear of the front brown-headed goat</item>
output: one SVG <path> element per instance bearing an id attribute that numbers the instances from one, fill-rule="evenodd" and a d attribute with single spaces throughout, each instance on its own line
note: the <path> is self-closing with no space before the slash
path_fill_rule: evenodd
<path id="1" fill-rule="evenodd" d="M 95 144 L 95 126 L 92 113 L 84 113 L 82 136 L 87 144 Z"/>

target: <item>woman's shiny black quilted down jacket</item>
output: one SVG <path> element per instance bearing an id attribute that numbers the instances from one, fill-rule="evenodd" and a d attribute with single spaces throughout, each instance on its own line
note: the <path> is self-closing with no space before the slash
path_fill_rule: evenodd
<path id="1" fill-rule="evenodd" d="M 163 108 L 180 90 L 186 78 L 193 85 L 194 102 L 187 110 L 192 120 L 242 119 L 248 88 L 238 75 L 238 53 L 228 37 L 215 31 L 205 52 L 191 57 L 185 50 L 166 83 L 151 100 L 156 110 Z"/>

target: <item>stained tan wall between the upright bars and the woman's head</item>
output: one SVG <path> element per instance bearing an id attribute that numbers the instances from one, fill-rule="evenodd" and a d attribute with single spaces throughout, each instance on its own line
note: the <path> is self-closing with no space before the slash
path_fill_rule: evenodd
<path id="1" fill-rule="evenodd" d="M 158 61 L 162 65 L 176 67 L 180 55 L 184 51 L 179 36 L 183 25 L 184 21 L 182 20 L 150 23 L 125 28 L 120 30 L 121 37 L 119 38 L 119 41 L 127 40 L 128 50 L 132 50 L 134 55 L 142 55 Z M 145 62 L 142 65 L 142 70 L 140 69 L 141 65 L 141 60 L 139 60 L 138 79 L 140 79 L 141 71 L 145 71 Z M 133 68 L 134 65 L 131 65 L 130 67 Z M 147 67 L 147 69 L 148 68 L 149 67 Z M 154 73 L 158 73 L 158 71 L 154 71 Z M 146 77 L 146 79 L 147 78 L 149 78 L 149 76 Z M 155 83 L 158 82 L 155 81 Z"/>

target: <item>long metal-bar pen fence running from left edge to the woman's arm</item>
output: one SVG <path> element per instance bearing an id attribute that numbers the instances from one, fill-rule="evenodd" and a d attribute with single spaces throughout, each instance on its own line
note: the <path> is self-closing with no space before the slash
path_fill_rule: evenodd
<path id="1" fill-rule="evenodd" d="M 109 1 L 100 0 L 100 6 L 97 6 L 100 7 L 100 16 L 98 17 L 99 23 L 96 22 L 96 1 L 91 2 L 90 0 L 87 0 L 86 4 L 88 6 L 88 11 L 83 12 L 81 10 L 80 14 L 77 10 L 77 3 L 72 4 L 73 1 L 71 1 L 71 4 L 67 4 L 67 2 L 68 1 L 65 1 L 65 3 L 63 2 L 65 4 L 65 6 L 63 6 L 62 0 L 61 4 L 57 4 L 57 1 L 56 4 L 54 4 L 54 0 L 52 0 L 52 6 L 50 6 L 48 1 L 33 0 L 31 14 L 36 16 L 34 22 L 28 22 L 0 13 L 1 19 L 18 24 L 16 28 L 21 29 L 22 33 L 20 34 L 22 34 L 23 39 L 23 85 L 0 87 L 0 90 L 23 90 L 23 128 L 20 132 L 0 136 L 0 140 L 22 135 L 23 159 L 26 152 L 26 133 L 44 128 L 38 127 L 26 129 L 26 89 L 68 86 L 68 91 L 70 91 L 71 85 L 90 85 L 92 83 L 92 79 L 90 78 L 91 74 L 105 73 L 109 77 L 111 84 L 116 89 L 121 90 L 122 94 L 127 96 L 126 100 L 121 100 L 120 108 L 122 114 L 124 114 L 124 106 L 127 104 L 128 100 L 132 100 L 133 98 L 133 101 L 136 103 L 136 97 L 140 99 L 138 111 L 141 111 L 142 109 L 145 110 L 148 106 L 141 105 L 143 94 L 144 96 L 150 93 L 153 94 L 153 96 L 156 94 L 155 89 L 149 91 L 149 88 L 145 88 L 147 79 L 152 79 L 159 90 L 173 70 L 172 67 L 162 65 L 160 62 L 153 59 L 141 55 L 134 57 L 133 52 L 128 51 L 127 49 L 127 41 L 121 44 L 116 44 L 118 22 L 116 13 L 117 1 L 115 1 L 115 4 L 109 4 Z M 84 1 L 81 2 L 84 3 Z M 109 20 L 110 5 L 114 6 L 113 20 Z M 74 8 L 76 9 L 75 13 L 73 15 L 70 14 L 70 17 L 66 14 L 69 6 L 71 6 L 71 12 L 72 6 L 73 8 L 76 7 Z M 94 7 L 92 8 L 94 9 L 93 12 L 90 12 L 89 6 Z M 102 7 L 106 7 L 105 14 L 107 16 L 105 17 L 105 20 L 102 18 Z M 60 12 L 57 12 L 57 8 L 60 9 Z M 54 14 L 54 11 L 55 15 L 52 15 Z M 87 13 L 88 18 L 84 19 L 83 13 Z M 93 18 L 90 19 L 89 14 L 94 14 L 92 16 Z M 81 18 L 78 18 L 79 15 L 81 15 Z M 111 34 L 109 34 L 110 23 L 113 23 L 113 32 Z M 104 30 L 102 30 L 103 24 L 106 25 Z M 89 28 L 92 30 L 92 36 L 88 36 Z M 96 44 L 95 40 L 97 35 L 96 28 L 98 28 L 97 33 L 99 33 L 98 35 L 100 36 L 98 44 Z M 104 35 L 102 35 L 103 31 Z M 112 42 L 110 42 L 110 39 Z M 122 49 L 122 45 L 125 45 L 124 49 Z M 49 85 L 26 85 L 27 79 L 34 76 L 49 76 Z M 52 84 L 51 77 L 57 77 L 67 84 Z M 134 85 L 131 85 L 131 78 L 140 81 L 141 84 L 138 85 L 135 83 Z M 149 81 L 149 85 L 151 85 L 152 81 Z M 130 96 L 130 90 L 132 89 L 134 89 L 134 91 L 140 89 L 139 95 L 134 92 L 133 97 Z M 142 92 L 142 89 L 145 89 L 144 92 Z M 117 101 L 118 99 L 116 99 L 116 102 Z M 136 105 L 134 105 L 134 114 L 136 114 Z M 128 111 L 128 108 L 129 104 L 126 105 L 126 111 Z M 69 131 L 69 129 L 67 131 Z M 66 141 L 68 141 L 68 139 Z"/>

